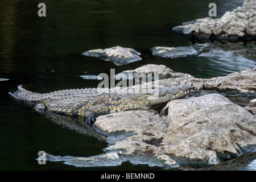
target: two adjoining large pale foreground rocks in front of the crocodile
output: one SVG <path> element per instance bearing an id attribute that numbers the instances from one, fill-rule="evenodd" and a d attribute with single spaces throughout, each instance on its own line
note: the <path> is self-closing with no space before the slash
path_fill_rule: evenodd
<path id="1" fill-rule="evenodd" d="M 167 115 L 137 110 L 98 118 L 95 126 L 110 136 L 105 151 L 135 164 L 176 167 L 217 164 L 256 150 L 256 118 L 224 96 L 174 100 L 164 110 Z"/>

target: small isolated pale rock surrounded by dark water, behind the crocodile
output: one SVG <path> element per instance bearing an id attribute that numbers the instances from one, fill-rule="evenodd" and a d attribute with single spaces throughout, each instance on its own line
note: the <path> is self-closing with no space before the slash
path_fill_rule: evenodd
<path id="1" fill-rule="evenodd" d="M 86 51 L 82 55 L 89 57 L 98 57 L 105 61 L 113 61 L 116 65 L 123 65 L 133 63 L 134 61 L 141 60 L 141 53 L 131 48 L 123 48 L 120 46 L 107 48 L 107 49 L 94 49 Z"/>

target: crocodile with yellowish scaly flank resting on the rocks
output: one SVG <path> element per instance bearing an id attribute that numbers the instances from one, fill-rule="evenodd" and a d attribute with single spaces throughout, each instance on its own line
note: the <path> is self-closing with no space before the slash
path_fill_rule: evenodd
<path id="1" fill-rule="evenodd" d="M 35 93 L 18 86 L 14 100 L 39 112 L 53 112 L 81 117 L 93 124 L 100 115 L 134 109 L 157 109 L 168 101 L 182 98 L 191 93 L 192 87 L 147 86 L 127 88 L 85 88 L 67 89 L 51 93 Z"/>

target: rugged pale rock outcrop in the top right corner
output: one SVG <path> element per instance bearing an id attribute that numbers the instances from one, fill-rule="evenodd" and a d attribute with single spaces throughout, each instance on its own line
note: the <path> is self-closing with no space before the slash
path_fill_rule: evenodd
<path id="1" fill-rule="evenodd" d="M 245 0 L 243 6 L 226 12 L 221 18 L 196 19 L 172 30 L 181 31 L 196 39 L 256 39 L 256 1 Z"/>

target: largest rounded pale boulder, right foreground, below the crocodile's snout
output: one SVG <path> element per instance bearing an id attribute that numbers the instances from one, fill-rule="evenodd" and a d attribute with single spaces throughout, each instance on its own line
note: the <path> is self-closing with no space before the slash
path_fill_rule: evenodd
<path id="1" fill-rule="evenodd" d="M 183 162 L 207 163 L 256 150 L 256 118 L 219 94 L 168 103 L 165 154 Z"/>

